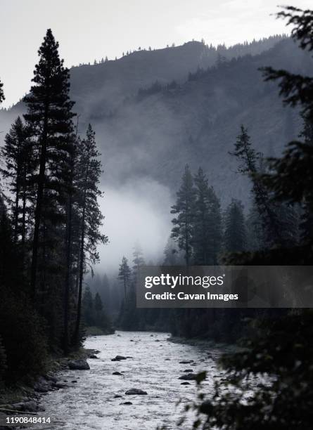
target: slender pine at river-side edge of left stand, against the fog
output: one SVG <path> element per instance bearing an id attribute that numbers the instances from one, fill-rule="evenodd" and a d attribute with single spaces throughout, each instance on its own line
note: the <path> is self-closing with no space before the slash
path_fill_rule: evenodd
<path id="1" fill-rule="evenodd" d="M 79 325 L 82 306 L 82 284 L 87 267 L 99 261 L 98 243 L 105 244 L 108 237 L 100 231 L 103 221 L 98 204 L 101 190 L 98 188 L 101 177 L 100 153 L 96 148 L 96 138 L 91 125 L 87 128 L 86 138 L 78 141 L 79 159 L 77 162 L 77 211 L 79 211 L 79 256 L 78 256 L 78 299 L 74 341 L 79 341 Z"/>

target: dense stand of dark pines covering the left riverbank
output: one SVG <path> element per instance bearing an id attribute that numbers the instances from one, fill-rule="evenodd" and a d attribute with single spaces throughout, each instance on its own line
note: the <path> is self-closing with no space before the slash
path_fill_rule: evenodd
<path id="1" fill-rule="evenodd" d="M 97 245 L 108 241 L 100 232 L 96 136 L 90 124 L 77 133 L 69 71 L 51 30 L 38 53 L 27 112 L 1 148 L 1 382 L 39 374 L 49 356 L 82 346 L 84 278 L 99 259 Z M 95 306 L 110 331 L 98 297 Z"/>

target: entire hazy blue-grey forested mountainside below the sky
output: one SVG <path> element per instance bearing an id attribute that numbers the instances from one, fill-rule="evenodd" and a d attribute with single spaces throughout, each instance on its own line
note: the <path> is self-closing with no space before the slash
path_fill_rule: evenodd
<path id="1" fill-rule="evenodd" d="M 296 115 L 283 110 L 276 88 L 264 86 L 257 70 L 268 64 L 309 69 L 307 54 L 281 39 L 228 49 L 194 41 L 72 67 L 70 94 L 80 112 L 79 129 L 94 125 L 103 161 L 110 159 L 106 182 L 148 176 L 174 191 L 181 166 L 188 162 L 197 169 L 201 161 L 223 201 L 227 195 L 245 200 L 247 183 L 234 174 L 227 156 L 238 124 L 248 126 L 265 155 L 278 154 L 299 128 Z M 1 130 L 21 111 L 20 103 L 1 112 Z"/>

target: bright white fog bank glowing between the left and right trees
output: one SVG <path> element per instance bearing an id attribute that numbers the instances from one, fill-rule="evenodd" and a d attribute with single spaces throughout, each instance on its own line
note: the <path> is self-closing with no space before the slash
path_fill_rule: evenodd
<path id="1" fill-rule="evenodd" d="M 109 242 L 99 247 L 101 263 L 94 268 L 95 272 L 117 271 L 122 256 L 132 261 L 136 242 L 141 245 L 146 262 L 158 263 L 171 229 L 169 188 L 146 178 L 103 191 L 100 204 L 106 218 L 102 231 Z"/>

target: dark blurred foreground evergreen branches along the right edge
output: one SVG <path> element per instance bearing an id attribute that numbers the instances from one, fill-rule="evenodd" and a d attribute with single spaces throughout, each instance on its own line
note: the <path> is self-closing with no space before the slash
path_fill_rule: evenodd
<path id="1" fill-rule="evenodd" d="M 300 48 L 313 48 L 313 13 L 288 7 L 279 17 L 295 25 L 293 38 Z M 307 130 L 313 124 L 312 78 L 284 70 L 264 70 L 267 80 L 280 80 L 281 95 L 290 105 L 300 105 L 305 116 L 305 141 L 287 145 L 281 158 L 272 159 L 267 174 L 254 176 L 271 194 L 272 202 L 300 204 L 312 216 L 312 152 Z M 301 136 L 300 136 L 301 137 Z M 311 168 L 309 168 L 311 166 Z M 312 240 L 302 235 L 299 243 L 280 244 L 276 249 L 234 254 L 231 264 L 312 264 Z M 298 309 L 272 318 L 253 320 L 250 337 L 241 341 L 236 353 L 224 356 L 226 377 L 215 384 L 213 396 L 199 395 L 194 405 L 198 419 L 193 428 L 280 429 L 312 427 L 312 311 Z M 199 375 L 198 382 L 205 377 Z"/>

